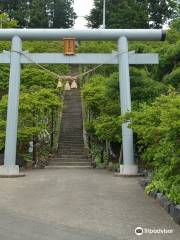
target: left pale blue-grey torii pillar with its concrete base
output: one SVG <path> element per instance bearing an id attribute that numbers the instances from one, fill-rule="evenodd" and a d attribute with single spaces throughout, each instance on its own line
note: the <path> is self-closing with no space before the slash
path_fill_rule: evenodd
<path id="1" fill-rule="evenodd" d="M 11 63 L 9 77 L 8 110 L 6 124 L 6 143 L 4 165 L 0 167 L 0 175 L 21 176 L 19 166 L 16 165 L 16 143 L 18 125 L 18 106 L 20 91 L 22 41 L 18 36 L 12 38 Z"/>

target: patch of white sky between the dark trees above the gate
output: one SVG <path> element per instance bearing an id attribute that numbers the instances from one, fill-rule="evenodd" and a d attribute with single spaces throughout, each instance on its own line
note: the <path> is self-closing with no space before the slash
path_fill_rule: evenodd
<path id="1" fill-rule="evenodd" d="M 74 28 L 87 28 L 85 26 L 87 24 L 87 21 L 83 18 L 83 16 L 88 15 L 92 7 L 93 0 L 74 0 L 74 11 L 76 12 L 77 16 L 79 16 L 76 19 Z"/>

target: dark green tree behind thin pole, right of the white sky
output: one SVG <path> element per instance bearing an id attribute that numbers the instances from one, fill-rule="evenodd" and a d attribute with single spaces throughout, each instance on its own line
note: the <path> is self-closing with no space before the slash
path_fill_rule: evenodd
<path id="1" fill-rule="evenodd" d="M 106 0 L 106 28 L 147 28 L 146 1 Z M 87 17 L 88 25 L 102 25 L 103 0 L 94 0 L 94 8 Z"/>

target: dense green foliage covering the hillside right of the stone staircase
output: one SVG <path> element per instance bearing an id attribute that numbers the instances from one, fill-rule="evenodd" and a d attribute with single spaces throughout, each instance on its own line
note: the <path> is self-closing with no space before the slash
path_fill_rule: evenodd
<path id="1" fill-rule="evenodd" d="M 180 203 L 180 21 L 176 20 L 162 42 L 130 43 L 138 53 L 159 52 L 159 65 L 132 66 L 132 113 L 120 116 L 118 69 L 104 65 L 82 81 L 86 128 L 92 154 L 102 164 L 102 151 L 116 159 L 121 145 L 122 119 L 130 120 L 139 164 L 153 172 L 147 191 L 156 188 Z M 115 43 L 81 44 L 80 51 L 116 51 Z M 89 66 L 86 66 L 86 69 Z M 108 147 L 107 147 L 108 146 Z M 110 154 L 109 154 L 110 153 Z M 116 153 L 116 154 L 113 154 Z M 106 160 L 106 159 L 105 159 Z M 116 165 L 117 166 L 117 165 Z"/>

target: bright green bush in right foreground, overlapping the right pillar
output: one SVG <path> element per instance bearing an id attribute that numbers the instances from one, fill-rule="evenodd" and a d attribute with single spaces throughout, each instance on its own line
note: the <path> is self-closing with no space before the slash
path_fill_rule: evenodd
<path id="1" fill-rule="evenodd" d="M 162 95 L 126 118 L 138 136 L 141 158 L 154 170 L 147 191 L 155 188 L 180 203 L 180 95 Z"/>

